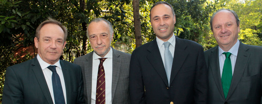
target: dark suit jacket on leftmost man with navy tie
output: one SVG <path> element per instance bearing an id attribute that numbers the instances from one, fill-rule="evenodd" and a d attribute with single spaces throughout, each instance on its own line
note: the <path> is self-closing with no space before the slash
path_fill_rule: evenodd
<path id="1" fill-rule="evenodd" d="M 60 60 L 68 104 L 85 103 L 79 65 Z M 43 71 L 35 57 L 7 67 L 2 104 L 53 104 Z"/>

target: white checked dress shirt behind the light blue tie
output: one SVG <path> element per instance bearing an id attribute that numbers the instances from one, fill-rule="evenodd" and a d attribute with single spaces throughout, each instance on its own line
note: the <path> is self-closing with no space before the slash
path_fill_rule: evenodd
<path id="1" fill-rule="evenodd" d="M 158 37 L 156 38 L 156 41 L 157 41 L 157 45 L 158 45 L 158 48 L 159 48 L 159 51 L 160 51 L 160 55 L 162 57 L 164 67 L 166 67 L 165 66 L 165 59 L 164 59 L 164 52 L 165 52 L 164 41 L 160 40 Z M 175 45 L 176 45 L 176 37 L 175 37 L 174 33 L 173 33 L 172 37 L 168 40 L 168 42 L 170 42 L 170 44 L 171 44 L 171 45 L 169 45 L 169 51 L 171 52 L 172 57 L 174 58 Z"/>

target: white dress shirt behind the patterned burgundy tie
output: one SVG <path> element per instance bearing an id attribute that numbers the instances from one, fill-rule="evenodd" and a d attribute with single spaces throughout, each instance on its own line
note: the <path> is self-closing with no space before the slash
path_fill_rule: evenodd
<path id="1" fill-rule="evenodd" d="M 100 56 L 93 52 L 93 67 L 92 67 L 92 93 L 91 93 L 91 104 L 96 103 L 96 81 L 98 66 L 100 64 Z M 105 70 L 105 103 L 112 104 L 112 69 L 113 69 L 113 51 L 110 47 L 110 51 L 105 55 L 105 61 L 103 62 Z"/>

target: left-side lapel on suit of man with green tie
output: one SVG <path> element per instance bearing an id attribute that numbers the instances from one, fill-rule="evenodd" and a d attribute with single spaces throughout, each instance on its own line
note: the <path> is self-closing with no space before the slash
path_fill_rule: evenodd
<path id="1" fill-rule="evenodd" d="M 210 63 L 210 65 L 208 66 L 208 68 L 210 68 L 211 73 L 213 75 L 214 81 L 216 83 L 216 86 L 219 90 L 219 93 L 221 94 L 221 96 L 224 97 L 224 92 L 223 92 L 223 88 L 222 88 L 222 83 L 221 83 L 221 77 L 220 77 L 220 70 L 219 70 L 219 56 L 218 56 L 218 46 L 216 48 L 214 48 L 213 50 L 211 50 L 211 54 L 208 56 L 208 63 Z"/>

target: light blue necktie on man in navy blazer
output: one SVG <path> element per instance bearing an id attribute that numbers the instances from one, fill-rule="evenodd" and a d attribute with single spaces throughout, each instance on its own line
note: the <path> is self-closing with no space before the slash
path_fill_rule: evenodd
<path id="1" fill-rule="evenodd" d="M 171 52 L 169 51 L 170 42 L 164 42 L 163 44 L 165 45 L 164 60 L 165 60 L 166 76 L 167 76 L 168 85 L 169 85 L 172 63 L 173 63 L 173 57 L 172 57 Z"/>

